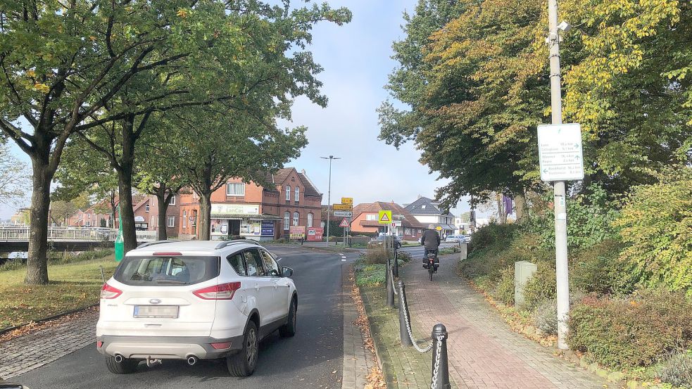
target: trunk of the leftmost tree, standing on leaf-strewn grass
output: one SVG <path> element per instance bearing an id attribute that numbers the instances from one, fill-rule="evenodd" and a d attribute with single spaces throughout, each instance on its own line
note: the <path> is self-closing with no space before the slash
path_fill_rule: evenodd
<path id="1" fill-rule="evenodd" d="M 28 285 L 48 283 L 48 212 L 51 206 L 51 180 L 54 172 L 49 167 L 49 151 L 37 151 L 31 156 L 32 194 L 29 227 Z M 42 155 L 39 155 L 42 154 Z"/>

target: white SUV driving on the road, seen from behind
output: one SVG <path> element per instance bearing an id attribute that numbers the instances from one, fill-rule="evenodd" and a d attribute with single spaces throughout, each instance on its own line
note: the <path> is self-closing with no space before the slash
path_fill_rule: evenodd
<path id="1" fill-rule="evenodd" d="M 96 348 L 115 374 L 225 357 L 230 374 L 249 376 L 263 337 L 296 333 L 291 274 L 253 241 L 145 243 L 101 289 Z"/>

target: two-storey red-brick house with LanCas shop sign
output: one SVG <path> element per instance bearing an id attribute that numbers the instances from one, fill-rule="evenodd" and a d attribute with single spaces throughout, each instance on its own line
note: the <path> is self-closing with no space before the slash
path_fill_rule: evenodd
<path id="1" fill-rule="evenodd" d="M 229 179 L 211 195 L 211 238 L 240 235 L 256 240 L 272 240 L 289 235 L 290 226 L 318 227 L 322 193 L 305 170 L 287 167 L 268 177 L 274 186 Z M 184 189 L 177 205 L 179 236 L 196 236 L 199 197 Z"/>

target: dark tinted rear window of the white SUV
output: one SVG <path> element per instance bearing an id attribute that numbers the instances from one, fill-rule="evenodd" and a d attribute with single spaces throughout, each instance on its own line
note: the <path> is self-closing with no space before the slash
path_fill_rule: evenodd
<path id="1" fill-rule="evenodd" d="M 132 286 L 179 286 L 219 275 L 220 257 L 125 257 L 113 278 Z"/>

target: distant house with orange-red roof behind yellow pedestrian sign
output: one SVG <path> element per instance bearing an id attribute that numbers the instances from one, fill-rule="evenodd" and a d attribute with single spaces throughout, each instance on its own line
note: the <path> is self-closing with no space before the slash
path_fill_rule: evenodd
<path id="1" fill-rule="evenodd" d="M 375 203 L 358 204 L 353 208 L 353 221 L 351 222 L 351 231 L 358 232 L 386 232 L 386 224 L 379 224 L 379 211 L 391 211 L 391 218 L 396 224 L 401 224 L 397 227 L 391 227 L 390 231 L 401 236 L 405 241 L 417 241 L 422 236 L 424 228 L 413 215 L 396 203 L 385 203 L 377 201 Z"/>

